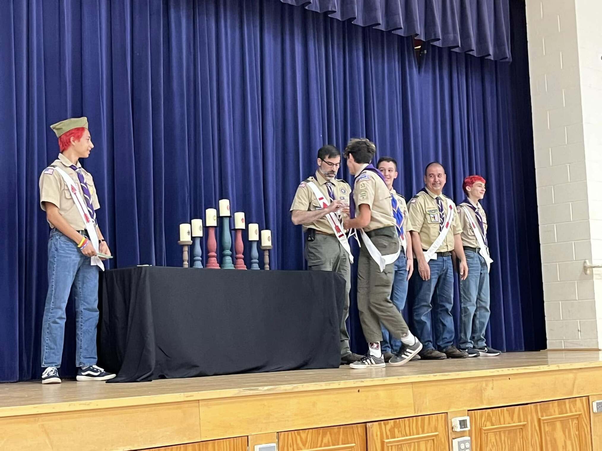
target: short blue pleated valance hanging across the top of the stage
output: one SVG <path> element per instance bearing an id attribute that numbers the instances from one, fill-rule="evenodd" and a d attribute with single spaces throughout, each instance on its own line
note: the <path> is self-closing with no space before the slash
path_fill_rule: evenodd
<path id="1" fill-rule="evenodd" d="M 510 61 L 508 0 L 278 0 L 356 25 Z"/>

